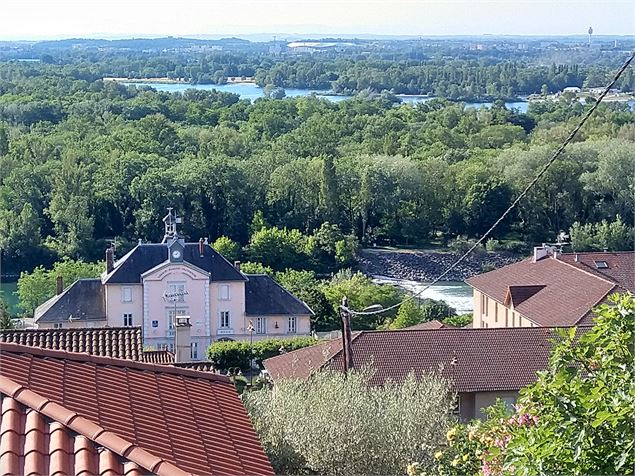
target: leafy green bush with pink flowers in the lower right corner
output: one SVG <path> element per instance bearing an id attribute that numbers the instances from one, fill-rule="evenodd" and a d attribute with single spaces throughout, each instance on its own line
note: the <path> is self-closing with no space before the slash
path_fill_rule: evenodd
<path id="1" fill-rule="evenodd" d="M 611 300 L 592 329 L 560 332 L 549 369 L 513 410 L 498 401 L 486 421 L 456 425 L 434 471 L 415 463 L 408 474 L 633 474 L 635 301 Z"/>

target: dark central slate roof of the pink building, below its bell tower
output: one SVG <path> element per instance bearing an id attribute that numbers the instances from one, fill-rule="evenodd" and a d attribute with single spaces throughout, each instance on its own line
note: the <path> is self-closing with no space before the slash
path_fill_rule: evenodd
<path id="1" fill-rule="evenodd" d="M 141 275 L 168 260 L 167 243 L 145 243 L 135 246 L 115 263 L 112 272 L 105 275 L 107 284 L 141 283 Z M 246 281 L 245 275 L 211 246 L 204 245 L 203 256 L 198 243 L 186 243 L 183 260 L 210 273 L 210 281 Z"/>

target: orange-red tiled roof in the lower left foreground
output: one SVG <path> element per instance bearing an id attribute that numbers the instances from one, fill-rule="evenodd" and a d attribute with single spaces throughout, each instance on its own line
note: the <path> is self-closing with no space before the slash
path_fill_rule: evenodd
<path id="1" fill-rule="evenodd" d="M 0 357 L 6 472 L 273 474 L 226 377 L 7 343 Z"/>

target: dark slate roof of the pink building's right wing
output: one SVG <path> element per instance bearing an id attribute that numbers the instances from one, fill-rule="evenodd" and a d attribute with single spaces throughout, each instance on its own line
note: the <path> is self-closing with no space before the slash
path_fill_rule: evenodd
<path id="1" fill-rule="evenodd" d="M 251 316 L 313 315 L 304 302 L 266 274 L 248 274 L 245 283 L 245 313 Z"/>

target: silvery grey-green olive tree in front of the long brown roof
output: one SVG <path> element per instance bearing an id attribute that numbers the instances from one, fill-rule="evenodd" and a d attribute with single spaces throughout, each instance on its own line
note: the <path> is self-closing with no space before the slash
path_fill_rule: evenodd
<path id="1" fill-rule="evenodd" d="M 403 474 L 432 467 L 429 448 L 453 422 L 454 395 L 437 374 L 370 385 L 373 373 L 324 370 L 244 395 L 278 474 Z"/>

